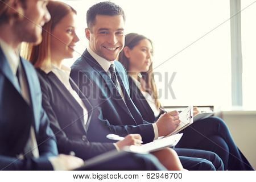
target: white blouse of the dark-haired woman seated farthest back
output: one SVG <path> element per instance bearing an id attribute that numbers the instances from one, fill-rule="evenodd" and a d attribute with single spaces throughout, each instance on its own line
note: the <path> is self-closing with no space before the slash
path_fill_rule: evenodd
<path id="1" fill-rule="evenodd" d="M 130 76 L 130 77 L 133 79 L 135 85 L 137 85 L 139 90 L 141 90 L 141 83 L 138 80 L 136 80 L 134 77 L 132 77 L 132 76 Z M 148 92 L 141 90 L 141 93 L 146 98 L 146 101 L 147 101 L 148 105 L 150 105 L 150 108 L 152 109 L 152 111 L 154 112 L 155 117 L 158 117 L 158 115 L 160 114 L 160 110 L 158 107 L 156 107 L 154 98 Z"/>

